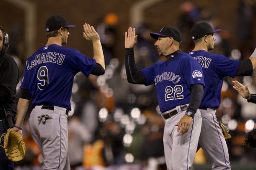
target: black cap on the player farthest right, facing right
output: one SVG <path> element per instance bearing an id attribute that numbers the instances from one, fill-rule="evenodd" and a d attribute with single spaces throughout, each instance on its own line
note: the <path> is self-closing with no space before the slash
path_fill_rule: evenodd
<path id="1" fill-rule="evenodd" d="M 201 23 L 195 24 L 191 28 L 191 37 L 193 40 L 196 40 L 196 39 L 202 38 L 204 36 L 208 36 L 212 33 L 215 33 L 219 30 L 221 30 L 221 29 L 214 30 L 212 28 L 212 26 L 207 22 L 201 22 Z"/>

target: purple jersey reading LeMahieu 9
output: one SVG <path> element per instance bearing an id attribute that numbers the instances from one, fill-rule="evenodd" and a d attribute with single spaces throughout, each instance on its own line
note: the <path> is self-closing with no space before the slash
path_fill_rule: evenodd
<path id="1" fill-rule="evenodd" d="M 29 90 L 33 107 L 45 104 L 71 110 L 74 76 L 81 71 L 88 77 L 95 65 L 95 59 L 75 49 L 44 46 L 27 59 L 20 88 Z"/>

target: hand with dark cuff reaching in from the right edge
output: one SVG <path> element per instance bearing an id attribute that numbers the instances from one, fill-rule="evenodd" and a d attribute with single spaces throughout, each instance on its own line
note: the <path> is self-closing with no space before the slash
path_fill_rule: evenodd
<path id="1" fill-rule="evenodd" d="M 238 93 L 244 99 L 247 99 L 248 102 L 256 103 L 256 94 L 251 94 L 248 89 L 248 86 L 244 86 L 243 84 L 240 84 L 239 81 L 236 81 L 236 80 L 232 81 L 232 83 L 233 83 L 233 89 L 238 91 Z"/>

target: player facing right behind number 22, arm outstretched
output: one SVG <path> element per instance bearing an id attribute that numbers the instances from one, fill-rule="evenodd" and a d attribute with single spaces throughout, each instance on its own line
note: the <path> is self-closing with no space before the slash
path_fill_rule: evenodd
<path id="1" fill-rule="evenodd" d="M 199 146 L 204 150 L 213 170 L 230 170 L 230 161 L 227 144 L 218 126 L 216 109 L 220 105 L 221 88 L 224 76 L 247 76 L 253 73 L 256 67 L 256 50 L 250 58 L 244 61 L 230 60 L 229 58 L 208 53 L 214 48 L 214 33 L 207 22 L 197 23 L 191 29 L 191 36 L 195 43 L 193 51 L 188 52 L 202 66 L 204 72 L 204 96 L 199 110 L 201 112 L 202 129 Z"/>

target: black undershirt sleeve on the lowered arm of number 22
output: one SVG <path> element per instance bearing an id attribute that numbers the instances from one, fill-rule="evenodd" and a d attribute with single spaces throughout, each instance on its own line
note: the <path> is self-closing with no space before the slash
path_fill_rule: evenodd
<path id="1" fill-rule="evenodd" d="M 204 95 L 204 86 L 202 84 L 193 84 L 191 87 L 190 102 L 187 111 L 196 113 L 196 110 L 201 104 L 202 97 Z"/>

